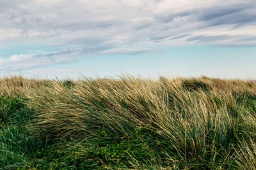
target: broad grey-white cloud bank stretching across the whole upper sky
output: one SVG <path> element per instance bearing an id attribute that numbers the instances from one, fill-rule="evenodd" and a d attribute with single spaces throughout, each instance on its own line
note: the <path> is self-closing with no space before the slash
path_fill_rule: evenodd
<path id="1" fill-rule="evenodd" d="M 255 7 L 254 0 L 2 0 L 0 45 L 26 45 L 31 52 L 6 56 L 0 67 L 147 53 L 161 45 L 255 46 Z M 58 50 L 33 52 L 35 44 Z"/>

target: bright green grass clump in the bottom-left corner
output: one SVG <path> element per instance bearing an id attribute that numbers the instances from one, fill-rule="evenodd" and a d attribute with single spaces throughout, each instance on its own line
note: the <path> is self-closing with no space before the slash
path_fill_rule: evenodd
<path id="1" fill-rule="evenodd" d="M 17 168 L 35 162 L 38 140 L 13 125 L 0 127 L 0 167 Z"/>

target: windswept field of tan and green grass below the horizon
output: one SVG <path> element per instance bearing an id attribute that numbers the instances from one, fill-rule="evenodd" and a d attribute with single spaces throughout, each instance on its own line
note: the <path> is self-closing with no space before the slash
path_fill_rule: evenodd
<path id="1" fill-rule="evenodd" d="M 256 83 L 0 80 L 0 169 L 256 169 Z"/>

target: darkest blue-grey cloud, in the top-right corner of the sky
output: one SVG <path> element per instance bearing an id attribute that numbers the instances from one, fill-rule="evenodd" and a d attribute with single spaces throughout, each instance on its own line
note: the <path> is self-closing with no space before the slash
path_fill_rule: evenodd
<path id="1" fill-rule="evenodd" d="M 234 1 L 236 3 L 236 1 Z M 244 1 L 236 4 L 214 4 L 213 6 L 206 6 L 195 8 L 188 11 L 180 11 L 173 13 L 167 11 L 162 15 L 157 15 L 156 18 L 163 22 L 173 22 L 174 18 L 191 17 L 190 22 L 204 22 L 200 28 L 214 27 L 216 25 L 246 25 L 256 22 L 256 4 L 253 1 Z"/>

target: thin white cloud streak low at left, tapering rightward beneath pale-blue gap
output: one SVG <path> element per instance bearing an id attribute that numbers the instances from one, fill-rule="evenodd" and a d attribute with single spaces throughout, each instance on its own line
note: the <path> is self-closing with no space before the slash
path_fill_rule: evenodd
<path id="1" fill-rule="evenodd" d="M 141 48 L 125 48 L 118 47 L 112 48 L 109 46 L 102 46 L 97 48 L 67 48 L 57 51 L 49 51 L 42 53 L 29 53 L 12 55 L 6 59 L 0 58 L 0 68 L 4 71 L 23 71 L 26 69 L 32 69 L 35 67 L 49 66 L 61 63 L 72 62 L 77 59 L 83 58 L 83 56 L 93 55 L 125 55 L 125 54 L 138 54 L 138 53 L 150 53 L 153 50 L 141 49 Z M 80 56 L 80 57 L 79 57 Z"/>

